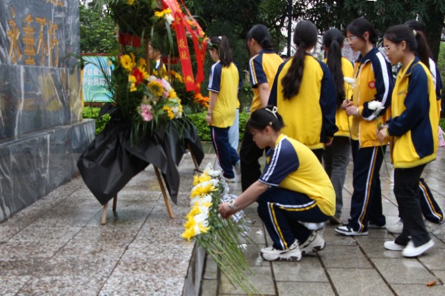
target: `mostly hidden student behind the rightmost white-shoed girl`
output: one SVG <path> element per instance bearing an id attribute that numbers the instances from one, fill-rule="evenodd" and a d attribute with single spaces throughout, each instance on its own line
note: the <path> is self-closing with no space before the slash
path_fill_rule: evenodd
<path id="1" fill-rule="evenodd" d="M 412 20 L 405 22 L 405 24 L 407 26 L 410 26 L 410 28 L 412 28 L 413 30 L 416 30 L 418 33 L 422 33 L 424 37 L 426 36 L 425 26 L 423 26 L 421 22 Z M 421 46 L 418 47 L 416 49 L 416 55 L 419 56 L 421 62 L 430 69 L 432 81 L 434 81 L 436 88 L 437 112 L 439 114 L 438 116 L 439 119 L 440 106 L 441 106 L 440 102 L 441 102 L 441 94 L 443 87 L 442 80 L 440 79 L 439 69 L 437 69 L 437 65 L 431 58 L 432 54 L 430 47 L 428 47 L 428 44 L 426 44 L 426 47 L 421 47 Z M 437 124 L 439 124 L 439 122 L 437 122 Z M 420 205 L 422 208 L 423 217 L 425 217 L 425 219 L 428 222 L 432 222 L 435 224 L 442 224 L 442 222 L 444 222 L 444 212 L 439 207 L 439 204 L 437 204 L 430 188 L 428 187 L 426 181 L 423 178 L 421 178 L 419 182 L 419 197 L 420 197 Z M 387 231 L 391 233 L 402 233 L 402 230 L 403 230 L 402 219 L 396 222 L 396 224 L 389 225 L 387 227 Z"/>

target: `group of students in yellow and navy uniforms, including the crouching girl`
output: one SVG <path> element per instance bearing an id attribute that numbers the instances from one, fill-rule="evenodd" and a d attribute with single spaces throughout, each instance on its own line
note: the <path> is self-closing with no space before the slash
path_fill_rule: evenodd
<path id="1" fill-rule="evenodd" d="M 239 106 L 241 78 L 227 38 L 210 39 L 215 63 L 206 120 L 223 176 L 232 182 L 234 171 L 238 177 L 241 173 L 243 190 L 218 209 L 229 217 L 258 203 L 273 240 L 261 249 L 265 260 L 300 261 L 325 247 L 321 233 L 307 223 L 341 224 L 341 192 L 351 152 L 350 218 L 335 231 L 366 236 L 370 228 L 386 227 L 379 172 L 388 144 L 401 220 L 387 227 L 398 236 L 384 247 L 414 257 L 434 245 L 423 216 L 435 223 L 444 216 L 421 173 L 436 157 L 442 82 L 419 22 L 385 32 L 386 58 L 376 47 L 378 38 L 373 24 L 360 17 L 349 24 L 346 37 L 337 29 L 323 34 L 326 58 L 320 61 L 310 54 L 318 30 L 302 21 L 293 35 L 297 51 L 283 61 L 273 51 L 268 29 L 253 26 L 246 44 L 252 54 L 254 98 L 239 156 L 230 145 L 229 129 Z M 355 63 L 341 56 L 344 42 L 359 52 Z M 398 65 L 396 79 L 391 64 Z"/>

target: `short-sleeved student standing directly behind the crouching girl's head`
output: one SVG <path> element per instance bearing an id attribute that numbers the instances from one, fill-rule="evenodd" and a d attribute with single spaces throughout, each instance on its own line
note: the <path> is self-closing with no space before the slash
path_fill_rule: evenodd
<path id="1" fill-rule="evenodd" d="M 250 29 L 245 42 L 252 54 L 249 60 L 250 83 L 253 88 L 250 112 L 254 113 L 255 110 L 267 106 L 273 78 L 283 60 L 275 54 L 268 28 L 262 24 L 257 24 Z M 261 165 L 258 160 L 263 154 L 264 149 L 255 145 L 252 134 L 245 129 L 240 150 L 242 190 L 249 188 L 261 175 Z"/>

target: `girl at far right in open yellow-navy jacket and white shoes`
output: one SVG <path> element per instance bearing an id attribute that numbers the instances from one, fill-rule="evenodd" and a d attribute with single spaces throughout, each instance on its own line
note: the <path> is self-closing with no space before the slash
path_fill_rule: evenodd
<path id="1" fill-rule="evenodd" d="M 423 168 L 437 153 L 435 83 L 428 66 L 416 56 L 416 50 L 426 46 L 423 34 L 407 25 L 392 26 L 383 44 L 391 63 L 402 64 L 391 99 L 391 120 L 378 131 L 378 138 L 381 142 L 390 138 L 394 195 L 403 219 L 402 233 L 384 246 L 415 257 L 434 245 L 423 222 L 419 181 Z"/>

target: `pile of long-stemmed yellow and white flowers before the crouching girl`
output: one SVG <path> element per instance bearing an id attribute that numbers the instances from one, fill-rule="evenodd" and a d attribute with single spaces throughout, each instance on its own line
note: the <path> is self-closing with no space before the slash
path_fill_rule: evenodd
<path id="1" fill-rule="evenodd" d="M 186 215 L 182 237 L 187 240 L 195 239 L 232 285 L 237 283 L 248 295 L 261 294 L 245 277 L 245 271 L 252 270 L 245 260 L 245 245 L 241 244 L 239 236 L 252 242 L 246 234 L 249 221 L 245 219 L 243 211 L 227 220 L 218 213 L 218 204 L 232 198 L 225 195 L 228 186 L 222 179 L 221 171 L 213 170 L 211 165 L 207 165 L 200 176 L 194 177 L 193 185 L 191 211 Z"/>

